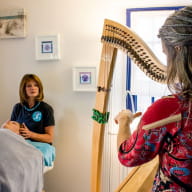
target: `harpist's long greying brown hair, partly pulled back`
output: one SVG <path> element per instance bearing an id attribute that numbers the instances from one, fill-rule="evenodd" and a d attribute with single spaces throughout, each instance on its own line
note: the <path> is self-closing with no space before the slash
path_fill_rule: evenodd
<path id="1" fill-rule="evenodd" d="M 192 7 L 184 7 L 166 20 L 159 30 L 167 54 L 167 84 L 192 97 Z"/>

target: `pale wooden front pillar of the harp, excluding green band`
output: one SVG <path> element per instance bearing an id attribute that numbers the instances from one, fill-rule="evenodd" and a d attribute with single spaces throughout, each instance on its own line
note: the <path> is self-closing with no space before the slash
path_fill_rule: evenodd
<path id="1" fill-rule="evenodd" d="M 111 47 L 108 44 L 103 44 L 97 84 L 98 90 L 94 108 L 102 114 L 106 113 L 116 55 L 116 48 Z M 99 123 L 97 121 L 93 122 L 91 192 L 101 191 L 104 130 L 104 123 Z"/>

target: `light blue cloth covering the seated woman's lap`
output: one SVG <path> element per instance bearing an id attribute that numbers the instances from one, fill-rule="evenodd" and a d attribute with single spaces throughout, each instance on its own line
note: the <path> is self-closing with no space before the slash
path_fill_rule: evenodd
<path id="1" fill-rule="evenodd" d="M 26 140 L 28 143 L 33 145 L 36 149 L 40 150 L 44 157 L 44 165 L 45 166 L 52 166 L 55 160 L 55 147 L 42 142 L 36 142 L 31 140 Z"/>

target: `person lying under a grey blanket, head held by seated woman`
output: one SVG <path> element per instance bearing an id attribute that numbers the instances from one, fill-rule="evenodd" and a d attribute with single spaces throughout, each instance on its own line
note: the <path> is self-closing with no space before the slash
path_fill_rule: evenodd
<path id="1" fill-rule="evenodd" d="M 0 191 L 42 191 L 42 153 L 19 135 L 19 128 L 8 121 L 0 129 Z"/>

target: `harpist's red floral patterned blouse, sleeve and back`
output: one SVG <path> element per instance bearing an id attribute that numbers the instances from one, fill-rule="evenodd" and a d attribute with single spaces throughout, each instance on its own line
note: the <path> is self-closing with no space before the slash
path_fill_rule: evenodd
<path id="1" fill-rule="evenodd" d="M 144 130 L 144 125 L 181 114 L 182 120 Z M 159 99 L 144 113 L 138 129 L 124 141 L 118 157 L 133 167 L 159 155 L 153 192 L 192 192 L 192 103 L 179 95 Z"/>

